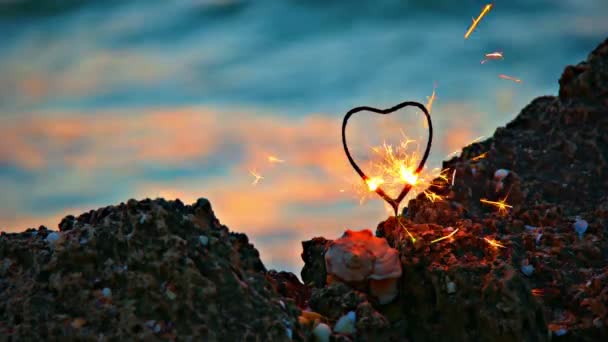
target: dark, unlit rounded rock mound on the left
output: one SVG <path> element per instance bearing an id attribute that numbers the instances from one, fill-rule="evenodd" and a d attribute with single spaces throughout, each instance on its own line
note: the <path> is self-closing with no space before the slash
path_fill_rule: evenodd
<path id="1" fill-rule="evenodd" d="M 60 228 L 0 236 L 3 340 L 301 339 L 295 304 L 205 199 L 130 200 Z"/>

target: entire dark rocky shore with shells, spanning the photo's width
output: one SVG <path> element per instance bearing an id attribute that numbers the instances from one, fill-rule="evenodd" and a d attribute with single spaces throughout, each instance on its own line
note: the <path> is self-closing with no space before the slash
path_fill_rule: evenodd
<path id="1" fill-rule="evenodd" d="M 443 200 L 304 241 L 304 284 L 205 199 L 2 233 L 0 340 L 608 340 L 608 40 L 559 84 L 444 162 Z"/>

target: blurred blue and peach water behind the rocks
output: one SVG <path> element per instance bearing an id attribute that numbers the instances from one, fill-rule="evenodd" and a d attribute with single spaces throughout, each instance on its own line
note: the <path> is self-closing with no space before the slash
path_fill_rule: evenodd
<path id="1" fill-rule="evenodd" d="M 277 144 L 243 138 L 259 135 L 258 117 L 282 120 L 275 135 L 285 139 L 300 134 L 289 127 L 308 129 L 299 138 L 304 143 L 283 150 L 297 155 L 306 152 L 298 146 L 326 127 L 318 118 L 340 120 L 359 105 L 425 101 L 434 85 L 443 143 L 431 159 L 438 164 L 472 136 L 490 136 L 534 97 L 556 94 L 565 65 L 586 58 L 608 36 L 606 0 L 497 0 L 465 40 L 485 4 L 0 0 L 0 227 L 55 227 L 48 221 L 67 211 L 135 196 L 208 196 L 220 189 L 206 184 L 231 182 L 234 174 L 246 178 L 235 186 L 240 189 L 250 185 L 250 148 L 241 148 L 243 141 L 259 142 L 264 151 Z M 494 51 L 504 60 L 482 65 Z M 200 137 L 187 138 L 193 135 Z M 226 135 L 232 138 L 222 139 Z M 314 173 L 312 164 L 302 168 Z M 255 196 L 254 190 L 247 191 Z M 234 203 L 228 200 L 217 200 L 216 212 L 259 242 L 270 267 L 295 270 L 297 253 L 286 250 L 297 250 L 294 244 L 313 232 L 338 235 L 342 222 L 362 210 L 357 201 L 340 199 L 327 210 L 304 192 L 286 207 L 283 197 L 265 191 L 260 201 L 276 202 L 276 212 L 265 214 L 262 205 L 251 213 L 259 210 L 266 219 L 222 207 Z M 365 210 L 361 225 L 373 228 L 384 215 L 381 205 Z M 319 215 L 327 216 L 306 221 Z M 253 223 L 234 227 L 241 224 L 235 216 Z M 293 228 L 293 222 L 335 229 Z M 300 233 L 284 232 L 294 229 Z"/>

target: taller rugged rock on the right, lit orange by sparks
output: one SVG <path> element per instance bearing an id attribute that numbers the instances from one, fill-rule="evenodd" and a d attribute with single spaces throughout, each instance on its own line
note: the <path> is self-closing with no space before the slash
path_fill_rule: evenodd
<path id="1" fill-rule="evenodd" d="M 356 308 L 355 340 L 608 340 L 608 40 L 559 83 L 444 163 L 450 177 L 431 188 L 443 200 L 420 195 L 379 224 L 403 265 L 395 303 L 314 282 L 311 308 Z M 303 277 L 325 274 L 330 242 L 303 244 Z M 377 318 L 365 329 L 362 306 Z"/>

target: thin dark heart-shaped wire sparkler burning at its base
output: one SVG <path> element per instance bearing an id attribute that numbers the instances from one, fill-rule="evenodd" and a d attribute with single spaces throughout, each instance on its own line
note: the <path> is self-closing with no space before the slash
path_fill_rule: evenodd
<path id="1" fill-rule="evenodd" d="M 356 108 L 349 110 L 348 113 L 346 113 L 346 115 L 344 116 L 344 121 L 342 121 L 342 145 L 344 146 L 344 152 L 346 153 L 346 156 L 348 157 L 348 161 L 350 162 L 350 164 L 353 166 L 355 171 L 357 171 L 359 176 L 361 176 L 361 178 L 363 178 L 363 181 L 366 184 L 367 184 L 367 181 L 369 180 L 369 177 L 361 170 L 361 168 L 359 168 L 359 165 L 357 165 L 357 163 L 355 163 L 353 157 L 350 155 L 350 152 L 348 151 L 348 147 L 346 146 L 346 124 L 348 123 L 348 119 L 353 114 L 361 112 L 361 111 L 369 111 L 369 112 L 373 112 L 376 114 L 387 115 L 387 114 L 394 113 L 394 112 L 398 111 L 399 109 L 407 107 L 407 106 L 413 106 L 413 107 L 420 108 L 424 112 L 424 115 L 426 116 L 426 121 L 427 121 L 428 127 L 429 127 L 429 139 L 427 140 L 427 143 L 426 143 L 426 149 L 424 150 L 424 155 L 422 156 L 422 159 L 420 160 L 418 167 L 414 171 L 415 174 L 418 175 L 424 168 L 424 163 L 426 163 L 426 159 L 429 156 L 429 152 L 431 151 L 431 142 L 433 141 L 433 124 L 431 123 L 431 115 L 429 114 L 428 110 L 426 109 L 426 107 L 423 104 L 418 103 L 418 102 L 413 102 L 413 101 L 407 101 L 407 102 L 400 103 L 400 104 L 398 104 L 392 108 L 388 108 L 388 109 L 377 109 L 377 108 L 366 107 L 366 106 L 356 107 Z M 384 192 L 384 190 L 382 190 L 380 188 L 380 186 L 376 187 L 375 191 L 378 195 L 380 195 L 380 197 L 382 197 L 382 199 L 384 199 L 393 208 L 393 210 L 395 211 L 395 216 L 397 216 L 398 211 L 399 211 L 399 203 L 401 203 L 403 198 L 407 195 L 407 193 L 411 189 L 412 189 L 412 185 L 409 183 L 406 183 L 403 186 L 403 190 L 401 190 L 401 193 L 399 194 L 399 196 L 397 196 L 397 198 L 390 198 Z"/>

